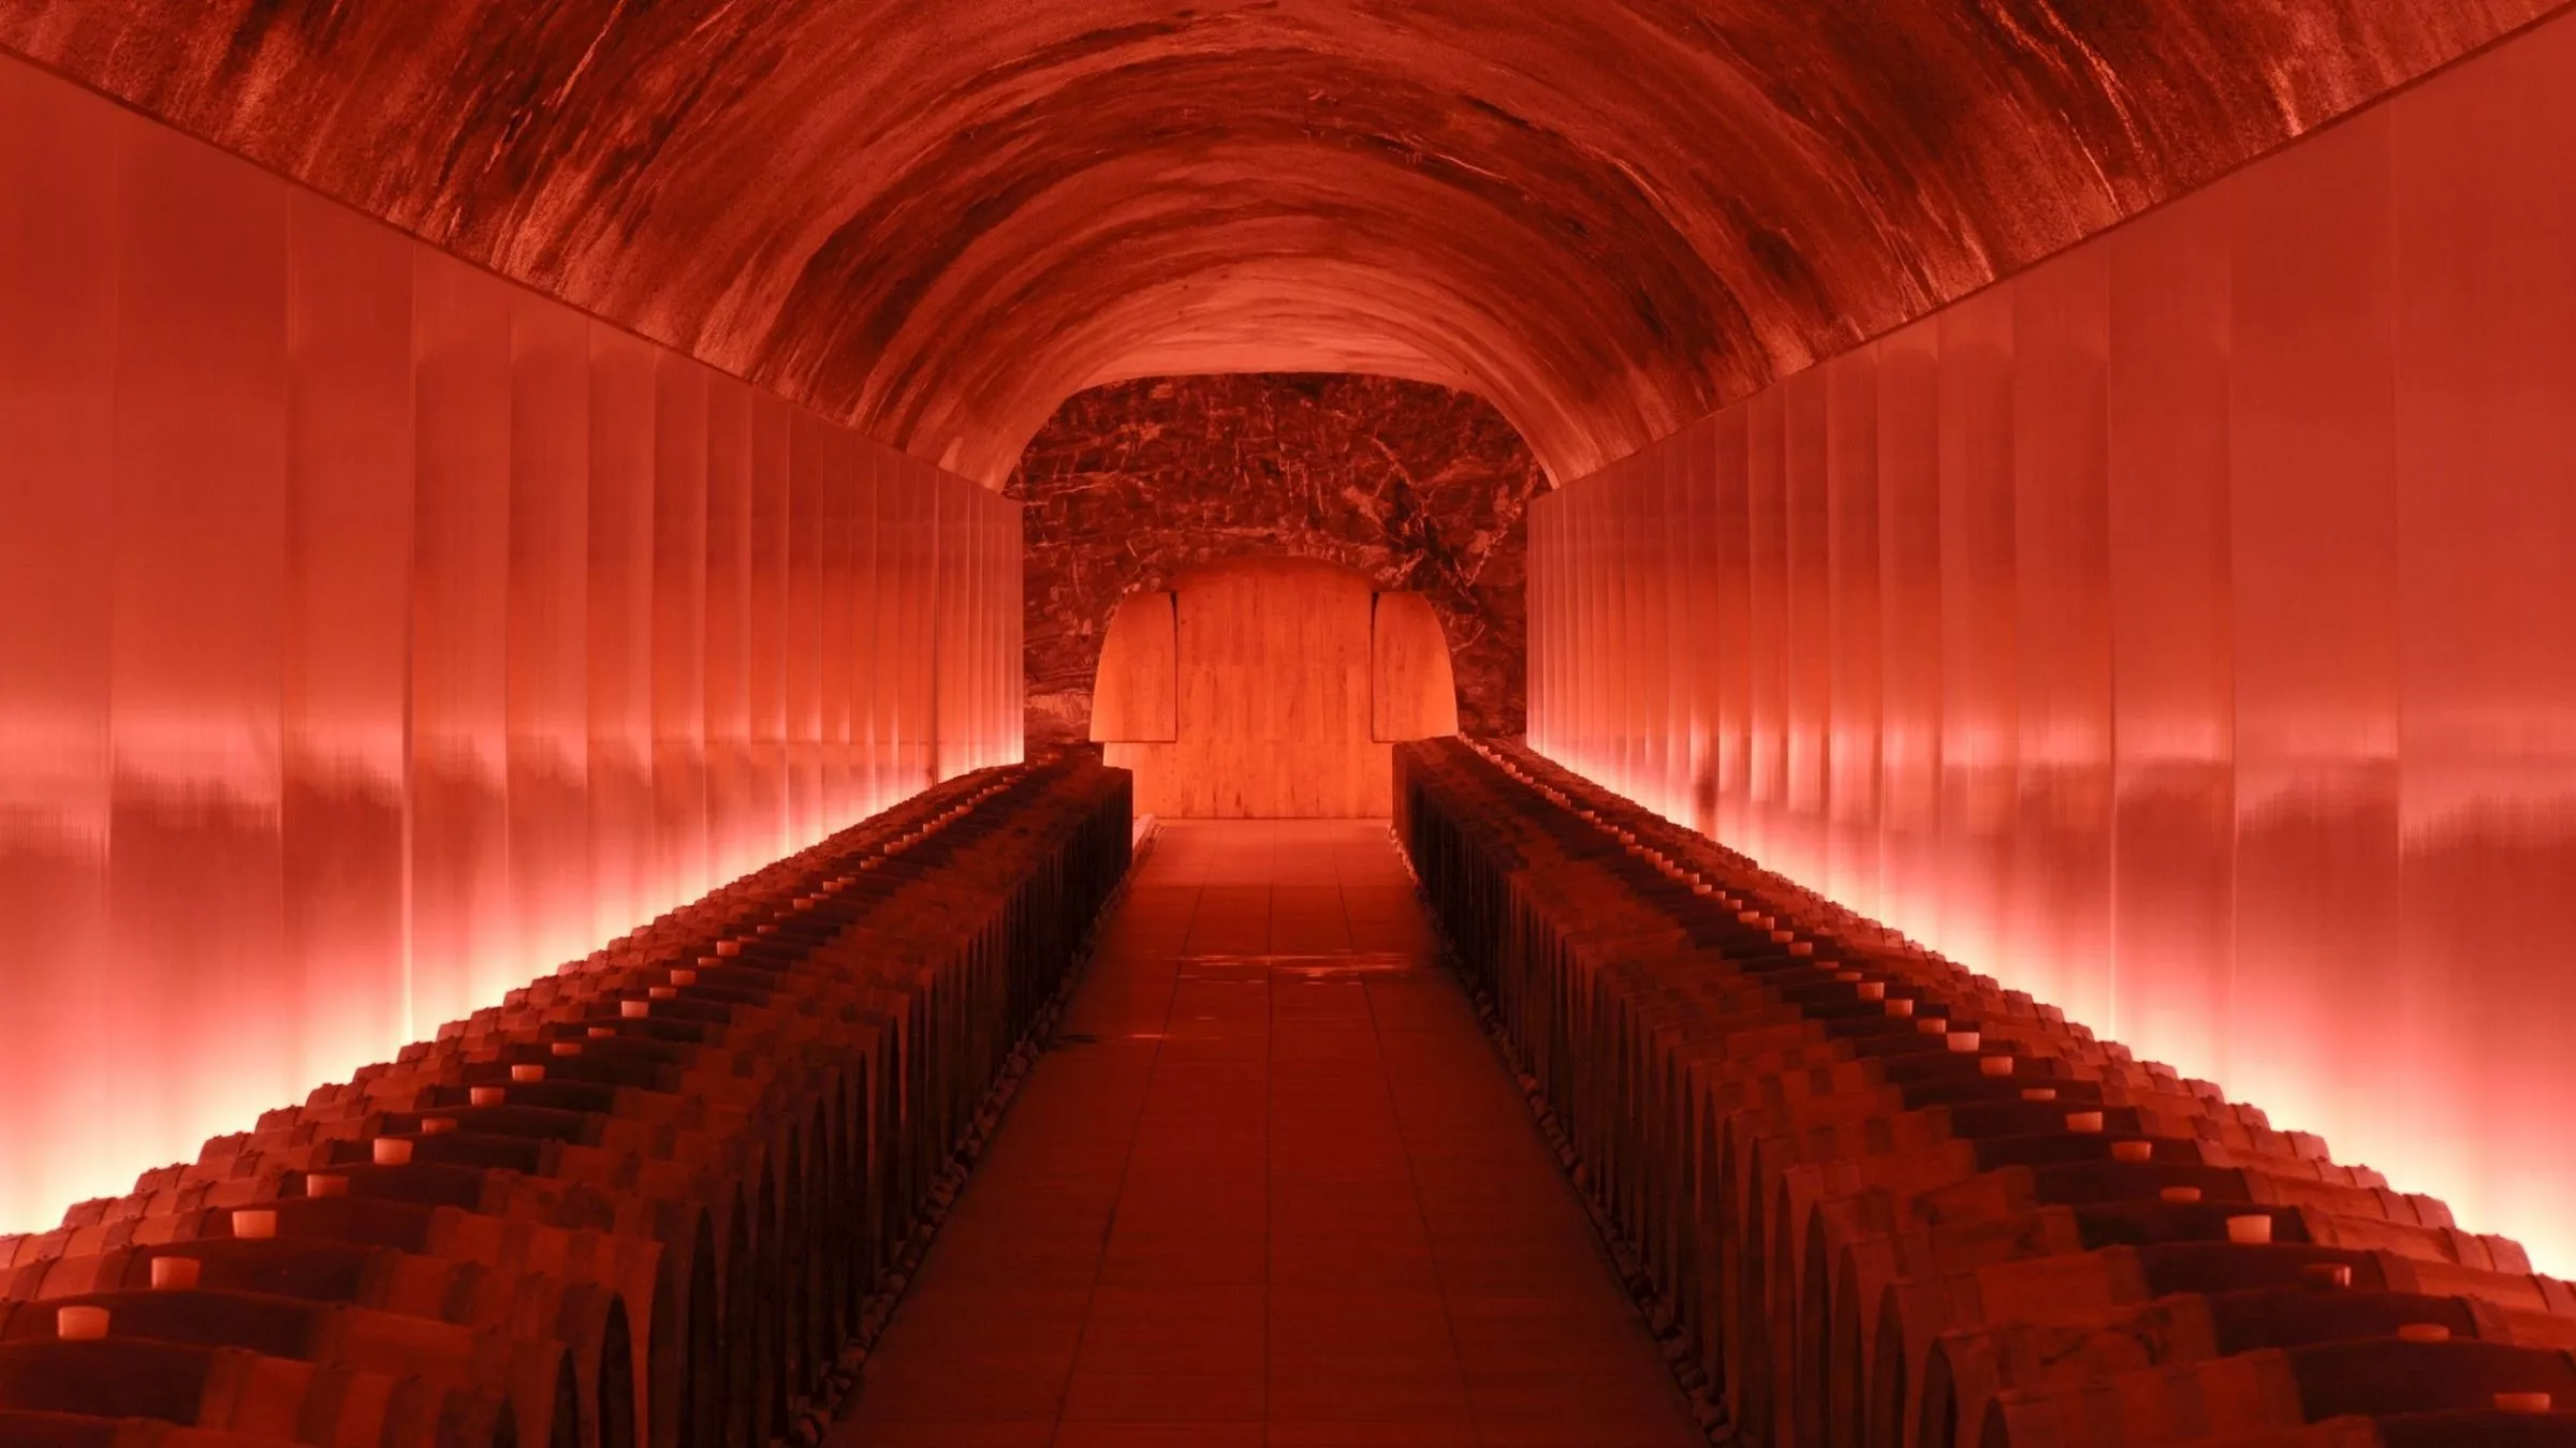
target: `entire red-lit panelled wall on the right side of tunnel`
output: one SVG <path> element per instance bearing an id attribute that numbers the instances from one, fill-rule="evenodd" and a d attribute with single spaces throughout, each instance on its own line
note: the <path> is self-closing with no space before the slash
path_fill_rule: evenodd
<path id="1" fill-rule="evenodd" d="M 2576 1268 L 2576 23 L 1533 513 L 1553 757 Z"/>

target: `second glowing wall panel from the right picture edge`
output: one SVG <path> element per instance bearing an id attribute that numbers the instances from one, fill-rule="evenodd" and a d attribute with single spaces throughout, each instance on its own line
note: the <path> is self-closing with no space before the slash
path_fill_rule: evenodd
<path id="1" fill-rule="evenodd" d="M 2385 108 L 2231 186 L 2236 624 L 2231 1074 L 2349 1139 L 2398 956 L 2396 289 Z"/>

